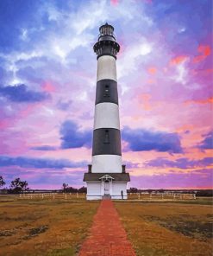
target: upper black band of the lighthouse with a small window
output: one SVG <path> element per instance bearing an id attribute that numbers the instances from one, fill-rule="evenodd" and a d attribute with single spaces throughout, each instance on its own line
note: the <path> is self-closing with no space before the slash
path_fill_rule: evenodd
<path id="1" fill-rule="evenodd" d="M 118 105 L 117 82 L 110 79 L 97 81 L 96 104 L 111 102 Z"/>

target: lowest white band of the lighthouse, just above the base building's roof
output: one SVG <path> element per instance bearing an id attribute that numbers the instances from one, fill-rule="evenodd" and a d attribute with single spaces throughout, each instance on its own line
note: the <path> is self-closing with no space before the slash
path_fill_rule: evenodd
<path id="1" fill-rule="evenodd" d="M 97 155 L 92 157 L 91 172 L 122 173 L 122 157 L 117 155 Z"/>

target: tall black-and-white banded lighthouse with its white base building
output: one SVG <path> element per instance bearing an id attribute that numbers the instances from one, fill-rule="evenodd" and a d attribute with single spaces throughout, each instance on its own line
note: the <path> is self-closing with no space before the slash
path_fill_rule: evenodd
<path id="1" fill-rule="evenodd" d="M 121 131 L 116 78 L 116 54 L 120 50 L 114 28 L 106 23 L 93 49 L 97 54 L 97 86 L 92 160 L 85 173 L 87 200 L 103 197 L 127 199 L 129 174 L 122 164 Z"/>

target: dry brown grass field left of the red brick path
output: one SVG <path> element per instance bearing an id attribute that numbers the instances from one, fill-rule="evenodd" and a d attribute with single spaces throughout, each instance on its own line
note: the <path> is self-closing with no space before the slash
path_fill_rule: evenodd
<path id="1" fill-rule="evenodd" d="M 75 255 L 98 202 L 83 198 L 0 196 L 0 255 Z"/>

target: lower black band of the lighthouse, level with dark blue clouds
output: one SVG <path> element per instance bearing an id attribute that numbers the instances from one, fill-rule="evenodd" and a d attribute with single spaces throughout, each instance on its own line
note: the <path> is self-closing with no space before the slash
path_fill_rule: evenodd
<path id="1" fill-rule="evenodd" d="M 92 156 L 122 156 L 121 132 L 114 128 L 100 128 L 93 131 Z"/>

